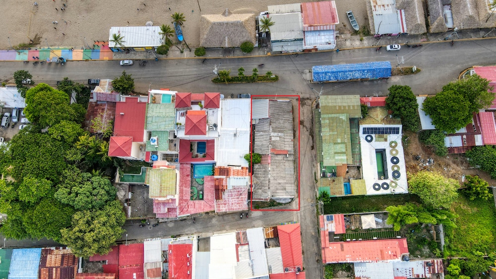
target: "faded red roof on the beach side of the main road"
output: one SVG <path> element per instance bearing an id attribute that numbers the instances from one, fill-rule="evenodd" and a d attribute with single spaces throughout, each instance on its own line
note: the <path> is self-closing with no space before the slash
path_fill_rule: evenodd
<path id="1" fill-rule="evenodd" d="M 303 2 L 302 18 L 304 31 L 334 29 L 332 25 L 339 23 L 334 1 Z"/>

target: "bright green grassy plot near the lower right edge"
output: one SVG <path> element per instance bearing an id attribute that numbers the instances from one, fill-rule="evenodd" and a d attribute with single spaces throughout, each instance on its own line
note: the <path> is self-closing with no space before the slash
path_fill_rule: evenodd
<path id="1" fill-rule="evenodd" d="M 473 251 L 491 253 L 496 249 L 496 209 L 493 199 L 470 201 L 463 195 L 451 206 L 457 227 L 446 231 L 450 256 L 466 257 Z"/>

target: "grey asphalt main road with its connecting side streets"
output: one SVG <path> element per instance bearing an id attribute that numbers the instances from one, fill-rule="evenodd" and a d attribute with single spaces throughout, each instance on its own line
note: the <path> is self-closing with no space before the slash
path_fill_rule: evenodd
<path id="1" fill-rule="evenodd" d="M 214 58 L 207 59 L 165 59 L 149 61 L 146 66 L 120 66 L 119 61 L 69 61 L 65 65 L 51 65 L 22 62 L 0 62 L 0 78 L 9 80 L 13 72 L 28 70 L 36 83 L 45 82 L 55 85 L 63 77 L 82 83 L 89 78 L 115 78 L 123 70 L 132 74 L 136 91 L 146 92 L 149 88 L 170 88 L 179 92 L 220 92 L 227 98 L 231 94 L 250 93 L 252 95 L 299 95 L 302 97 L 300 117 L 300 211 L 299 212 L 250 212 L 248 219 L 240 219 L 239 214 L 203 215 L 185 221 L 160 223 L 159 225 L 139 227 L 139 223 L 126 223 L 122 240 L 126 234 L 128 241 L 170 235 L 198 234 L 208 236 L 212 231 L 228 231 L 240 228 L 270 226 L 278 223 L 298 221 L 302 224 L 304 266 L 308 278 L 322 278 L 320 260 L 320 240 L 315 208 L 314 170 L 315 152 L 310 134 L 311 103 L 318 94 L 360 94 L 362 96 L 387 95 L 391 85 L 408 85 L 417 95 L 435 94 L 442 86 L 458 77 L 465 68 L 473 65 L 496 64 L 495 40 L 449 42 L 423 44 L 422 47 L 408 48 L 402 46 L 400 51 L 387 52 L 385 48 L 378 52 L 375 48 L 341 50 L 299 55 L 264 56 L 248 58 Z M 377 81 L 353 81 L 340 83 L 313 84 L 306 79 L 306 72 L 313 65 L 359 63 L 366 61 L 391 61 L 396 66 L 417 66 L 421 72 L 416 75 L 394 76 Z M 238 68 L 244 67 L 245 74 L 258 68 L 260 74 L 271 71 L 279 75 L 275 83 L 248 84 L 214 84 L 210 80 L 215 76 L 214 66 L 218 69 L 231 70 L 237 75 Z M 13 79 L 9 82 L 13 83 Z M 295 123 L 296 124 L 296 123 Z M 40 244 L 41 243 L 41 244 Z M 6 240 L 6 246 L 32 247 L 50 245 L 50 242 Z M 53 245 L 53 244 L 52 244 Z"/>

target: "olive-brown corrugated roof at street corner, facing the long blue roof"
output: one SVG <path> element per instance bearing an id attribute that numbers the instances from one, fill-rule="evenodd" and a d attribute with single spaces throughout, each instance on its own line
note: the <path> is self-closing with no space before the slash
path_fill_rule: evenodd
<path id="1" fill-rule="evenodd" d="M 322 114 L 347 113 L 350 118 L 361 118 L 360 95 L 324 95 L 320 96 Z"/>

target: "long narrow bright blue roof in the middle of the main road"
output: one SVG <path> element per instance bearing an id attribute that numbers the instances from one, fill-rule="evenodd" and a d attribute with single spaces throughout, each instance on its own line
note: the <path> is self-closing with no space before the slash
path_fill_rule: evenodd
<path id="1" fill-rule="evenodd" d="M 378 79 L 391 76 L 389 61 L 311 67 L 313 82 Z"/>

